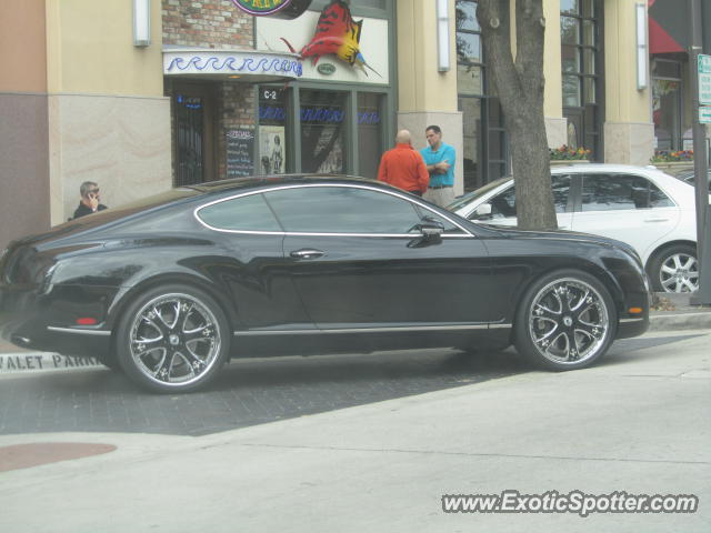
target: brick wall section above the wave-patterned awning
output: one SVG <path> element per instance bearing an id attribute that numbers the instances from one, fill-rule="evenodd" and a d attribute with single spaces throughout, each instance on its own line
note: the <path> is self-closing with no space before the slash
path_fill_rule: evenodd
<path id="1" fill-rule="evenodd" d="M 163 0 L 163 44 L 253 48 L 253 17 L 231 0 Z"/>

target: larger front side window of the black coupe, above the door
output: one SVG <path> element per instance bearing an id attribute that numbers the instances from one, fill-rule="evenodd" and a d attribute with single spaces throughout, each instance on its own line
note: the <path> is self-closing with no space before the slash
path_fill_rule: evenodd
<path id="1" fill-rule="evenodd" d="M 298 187 L 266 197 L 290 232 L 404 234 L 420 223 L 411 202 L 370 189 Z"/>

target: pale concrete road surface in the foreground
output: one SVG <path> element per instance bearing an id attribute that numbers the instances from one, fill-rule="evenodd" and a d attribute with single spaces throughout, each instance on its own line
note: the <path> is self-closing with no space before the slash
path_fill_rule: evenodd
<path id="1" fill-rule="evenodd" d="M 689 331 L 675 335 L 672 353 L 658 343 L 588 370 L 202 438 L 0 436 L 0 446 L 106 451 L 1 473 L 0 531 L 708 532 L 710 341 Z M 504 490 L 694 494 L 701 504 L 693 514 L 588 517 L 442 511 L 443 494 Z"/>

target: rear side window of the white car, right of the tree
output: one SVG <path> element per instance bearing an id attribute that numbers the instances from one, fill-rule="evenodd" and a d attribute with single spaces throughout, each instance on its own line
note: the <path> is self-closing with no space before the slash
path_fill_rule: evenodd
<path id="1" fill-rule="evenodd" d="M 654 183 L 641 175 L 585 174 L 582 211 L 664 208 L 673 202 Z"/>

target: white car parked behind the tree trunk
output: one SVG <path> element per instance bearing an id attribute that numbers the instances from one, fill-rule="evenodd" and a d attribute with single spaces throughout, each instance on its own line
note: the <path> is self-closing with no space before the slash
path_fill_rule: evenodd
<path id="1" fill-rule="evenodd" d="M 631 244 L 658 292 L 699 288 L 694 189 L 653 167 L 575 164 L 551 170 L 562 230 Z M 515 225 L 513 180 L 501 178 L 449 209 L 477 222 Z"/>

